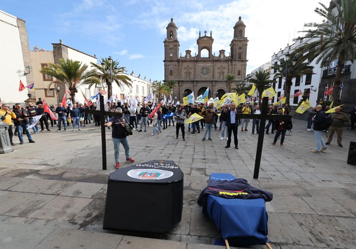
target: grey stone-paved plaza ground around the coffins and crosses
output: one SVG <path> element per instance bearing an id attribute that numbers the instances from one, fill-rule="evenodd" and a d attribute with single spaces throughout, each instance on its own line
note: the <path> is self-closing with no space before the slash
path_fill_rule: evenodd
<path id="1" fill-rule="evenodd" d="M 251 123 L 249 132 L 238 133 L 239 150 L 225 149 L 226 140 L 215 131 L 213 142 L 202 142 L 202 133 L 177 140 L 172 126 L 157 136 L 150 136 L 152 127 L 134 131 L 130 153 L 137 162 L 173 160 L 184 172 L 182 221 L 166 234 L 102 229 L 106 183 L 114 171 L 111 131 L 106 133 L 106 171 L 101 170 L 98 127 L 43 132 L 33 135 L 35 144 L 25 138 L 14 152 L 0 155 L 0 248 L 223 248 L 212 245 L 220 234 L 197 205 L 215 172 L 246 178 L 273 193 L 266 203 L 273 249 L 356 248 L 356 166 L 346 164 L 356 133 L 345 129 L 343 148 L 335 134 L 327 152 L 313 154 L 314 134 L 306 131 L 306 121 L 293 119 L 293 126 L 284 148 L 269 145 L 273 134 L 265 135 L 257 180 L 252 173 L 258 134 L 251 134 Z M 120 157 L 123 167 L 129 165 L 123 150 Z"/>

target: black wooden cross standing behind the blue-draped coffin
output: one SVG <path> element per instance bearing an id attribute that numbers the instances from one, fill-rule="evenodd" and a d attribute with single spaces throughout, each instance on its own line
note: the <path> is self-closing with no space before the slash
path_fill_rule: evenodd
<path id="1" fill-rule="evenodd" d="M 263 97 L 261 114 L 237 114 L 238 118 L 259 119 L 260 132 L 258 133 L 255 170 L 253 171 L 253 178 L 258 179 L 260 173 L 261 155 L 263 147 L 263 138 L 265 137 L 266 120 L 292 120 L 291 115 L 267 115 L 268 97 Z M 262 132 L 261 132 L 262 131 Z"/>

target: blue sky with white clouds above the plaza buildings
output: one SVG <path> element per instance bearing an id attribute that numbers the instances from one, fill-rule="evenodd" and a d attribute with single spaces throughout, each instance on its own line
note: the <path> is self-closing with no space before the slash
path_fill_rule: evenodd
<path id="1" fill-rule="evenodd" d="M 111 56 L 130 73 L 163 80 L 166 27 L 173 16 L 179 52 L 198 52 L 199 31 L 213 33 L 213 53 L 229 55 L 234 25 L 242 17 L 248 38 L 247 73 L 292 44 L 314 9 L 326 0 L 2 0 L 0 10 L 26 21 L 30 48 L 63 43 L 98 58 Z"/>

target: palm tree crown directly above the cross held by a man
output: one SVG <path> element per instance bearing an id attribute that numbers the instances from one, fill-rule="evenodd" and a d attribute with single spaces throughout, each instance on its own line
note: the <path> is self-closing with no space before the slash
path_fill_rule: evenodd
<path id="1" fill-rule="evenodd" d="M 99 60 L 100 62 L 100 60 Z M 118 67 L 119 62 L 117 60 L 113 60 L 111 63 L 109 63 L 109 60 L 107 58 L 101 58 L 101 65 L 98 65 L 96 63 L 90 62 L 91 67 L 96 68 L 96 73 L 95 77 L 100 80 L 101 85 L 104 87 L 104 83 L 108 86 L 108 96 L 112 95 L 111 92 L 111 87 L 110 87 L 110 68 L 113 74 L 111 75 L 112 77 L 112 82 L 115 82 L 119 87 L 122 85 L 126 86 L 131 86 L 131 79 L 129 76 L 125 74 L 126 70 L 125 67 Z M 104 65 L 104 68 L 103 68 Z M 92 85 L 89 85 L 89 88 Z"/>

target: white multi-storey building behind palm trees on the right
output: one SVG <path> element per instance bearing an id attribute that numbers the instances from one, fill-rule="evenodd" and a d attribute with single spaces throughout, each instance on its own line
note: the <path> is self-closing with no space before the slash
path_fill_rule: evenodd
<path id="1" fill-rule="evenodd" d="M 298 48 L 301 46 L 304 42 L 313 42 L 315 38 L 310 38 L 305 41 L 302 41 L 300 43 L 300 40 L 297 40 L 295 43 L 292 45 L 288 45 L 287 47 L 284 48 L 283 50 L 280 49 L 277 54 L 273 54 L 271 58 L 271 66 L 273 64 L 279 64 L 277 59 L 286 59 L 286 54 L 287 52 L 292 53 L 294 49 Z M 290 58 L 290 60 L 293 58 Z M 309 65 L 313 66 L 313 72 L 315 74 L 309 74 L 309 75 L 303 75 L 303 77 L 297 77 L 292 80 L 292 86 L 290 87 L 290 96 L 289 96 L 289 102 L 291 106 L 298 106 L 299 101 L 302 99 L 302 95 L 299 95 L 298 97 L 294 97 L 294 94 L 298 92 L 299 90 L 305 92 L 305 94 L 309 94 L 308 99 L 310 103 L 315 106 L 317 97 L 318 97 L 318 88 L 319 88 L 319 82 L 320 82 L 320 68 L 319 65 L 316 64 L 316 59 L 313 60 Z M 272 70 L 271 71 L 271 80 L 273 79 L 274 73 L 276 71 Z M 273 84 L 274 85 L 274 90 L 277 92 L 277 96 L 273 97 L 272 102 L 278 101 L 278 97 L 281 95 L 284 95 L 284 79 L 277 78 L 277 83 Z M 311 91 L 312 90 L 312 91 Z"/>

